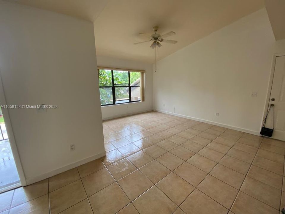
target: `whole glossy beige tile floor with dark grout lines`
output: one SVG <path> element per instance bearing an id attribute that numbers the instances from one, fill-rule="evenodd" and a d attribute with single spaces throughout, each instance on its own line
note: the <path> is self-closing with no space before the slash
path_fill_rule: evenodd
<path id="1" fill-rule="evenodd" d="M 106 157 L 0 194 L 0 213 L 279 214 L 285 142 L 159 112 L 103 122 Z"/>

